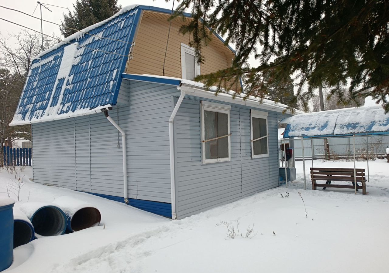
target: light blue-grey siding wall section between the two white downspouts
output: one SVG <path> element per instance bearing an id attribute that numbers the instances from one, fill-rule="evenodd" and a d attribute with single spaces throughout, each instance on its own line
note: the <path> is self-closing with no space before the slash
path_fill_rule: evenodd
<path id="1" fill-rule="evenodd" d="M 127 133 L 130 198 L 171 202 L 169 117 L 177 88 L 155 83 L 130 83 Z"/>

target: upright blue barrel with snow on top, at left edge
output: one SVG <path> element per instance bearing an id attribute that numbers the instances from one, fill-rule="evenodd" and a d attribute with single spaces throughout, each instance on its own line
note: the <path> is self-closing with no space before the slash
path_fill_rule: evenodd
<path id="1" fill-rule="evenodd" d="M 12 264 L 14 259 L 14 213 L 15 201 L 0 197 L 0 271 Z"/>

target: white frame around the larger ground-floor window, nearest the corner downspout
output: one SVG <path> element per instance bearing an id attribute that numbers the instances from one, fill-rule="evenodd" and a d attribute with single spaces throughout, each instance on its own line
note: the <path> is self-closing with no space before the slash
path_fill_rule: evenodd
<path id="1" fill-rule="evenodd" d="M 228 120 L 228 157 L 224 158 L 211 158 L 205 159 L 205 120 L 204 120 L 204 111 L 212 111 L 217 113 L 227 114 Z M 201 102 L 201 111 L 200 111 L 200 120 L 201 120 L 201 159 L 202 164 L 215 163 L 215 162 L 227 162 L 231 161 L 231 119 L 230 119 L 231 106 L 219 103 L 212 103 L 209 101 Z"/>

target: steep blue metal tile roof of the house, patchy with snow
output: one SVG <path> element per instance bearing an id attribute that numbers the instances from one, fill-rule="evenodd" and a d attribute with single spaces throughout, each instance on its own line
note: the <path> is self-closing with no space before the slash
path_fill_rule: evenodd
<path id="1" fill-rule="evenodd" d="M 37 56 L 10 125 L 86 115 L 116 104 L 140 10 L 171 13 L 156 7 L 129 6 L 83 30 L 103 38 L 78 32 Z"/>

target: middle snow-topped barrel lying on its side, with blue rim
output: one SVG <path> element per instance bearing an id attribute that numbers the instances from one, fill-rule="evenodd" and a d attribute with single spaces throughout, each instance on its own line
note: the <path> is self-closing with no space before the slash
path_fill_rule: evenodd
<path id="1" fill-rule="evenodd" d="M 35 238 L 62 235 L 66 230 L 66 216 L 60 207 L 53 204 L 28 202 L 20 210 L 30 219 Z"/>

